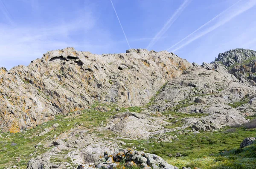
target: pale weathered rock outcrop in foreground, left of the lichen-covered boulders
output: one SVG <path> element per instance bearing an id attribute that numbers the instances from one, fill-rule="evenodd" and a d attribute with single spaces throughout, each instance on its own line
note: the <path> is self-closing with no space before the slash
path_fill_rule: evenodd
<path id="1" fill-rule="evenodd" d="M 28 163 L 28 169 L 61 167 L 63 169 L 67 169 L 68 167 L 73 169 L 84 163 L 98 163 L 99 157 L 105 151 L 113 153 L 116 149 L 119 149 L 118 144 L 114 141 L 103 140 L 95 134 L 87 134 L 86 129 L 79 128 L 59 135 L 58 138 L 45 144 L 44 147 L 51 147 L 51 149 L 42 155 L 32 158 Z M 62 159 L 63 162 L 50 160 L 55 158 Z M 68 163 L 67 161 L 70 161 L 68 159 L 72 163 Z"/>

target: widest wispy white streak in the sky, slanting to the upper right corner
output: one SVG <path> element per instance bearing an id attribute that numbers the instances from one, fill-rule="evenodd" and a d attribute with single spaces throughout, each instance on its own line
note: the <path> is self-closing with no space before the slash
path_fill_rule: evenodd
<path id="1" fill-rule="evenodd" d="M 243 13 L 244 11 L 247 11 L 248 9 L 252 8 L 256 5 L 256 0 L 239 0 L 211 20 L 209 20 L 207 23 L 205 23 L 200 28 L 196 29 L 194 32 L 189 34 L 188 36 L 184 37 L 179 42 L 175 43 L 173 46 L 171 46 L 168 51 L 173 49 L 175 46 L 175 49 L 172 50 L 172 52 L 176 52 L 177 50 L 183 48 L 184 46 L 188 45 L 189 43 L 192 43 L 194 40 L 197 40 L 198 38 L 204 36 L 205 34 L 214 31 L 218 27 L 224 25 L 234 17 L 238 16 L 239 14 Z M 210 23 L 213 23 L 212 26 L 207 27 L 206 29 L 203 29 Z"/>

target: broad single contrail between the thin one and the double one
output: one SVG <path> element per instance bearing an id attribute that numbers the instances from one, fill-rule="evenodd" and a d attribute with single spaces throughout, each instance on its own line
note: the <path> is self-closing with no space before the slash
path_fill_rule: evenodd
<path id="1" fill-rule="evenodd" d="M 163 36 L 163 34 L 172 26 L 172 24 L 180 16 L 180 14 L 186 8 L 186 6 L 189 4 L 189 2 L 190 2 L 190 0 L 184 0 L 184 2 L 175 11 L 175 13 L 172 15 L 172 17 L 170 17 L 170 19 L 167 20 L 167 22 L 164 24 L 163 28 L 150 41 L 150 43 L 147 46 L 147 49 L 151 48 L 157 42 L 157 40 L 159 40 Z"/>

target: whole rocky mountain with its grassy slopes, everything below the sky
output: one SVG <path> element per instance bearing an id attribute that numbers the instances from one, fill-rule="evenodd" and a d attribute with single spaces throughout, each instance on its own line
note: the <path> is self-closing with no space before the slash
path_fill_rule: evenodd
<path id="1" fill-rule="evenodd" d="M 248 153 L 253 139 L 244 150 L 227 149 L 256 137 L 255 58 L 234 49 L 198 65 L 166 51 L 66 48 L 29 66 L 1 68 L 0 168 L 224 169 L 227 159 L 247 165 L 256 158 Z M 191 162 L 195 157 L 201 159 Z M 212 165 L 198 163 L 204 160 Z"/>

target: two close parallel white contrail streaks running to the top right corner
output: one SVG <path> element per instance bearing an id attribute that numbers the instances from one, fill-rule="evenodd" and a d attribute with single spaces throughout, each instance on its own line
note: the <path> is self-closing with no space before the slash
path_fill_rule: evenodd
<path id="1" fill-rule="evenodd" d="M 182 40 L 180 40 L 178 43 L 175 43 L 173 46 L 171 46 L 169 49 L 172 49 L 173 47 L 177 46 L 178 44 L 180 44 L 181 42 L 183 42 L 184 40 L 186 40 L 187 38 L 191 37 L 193 34 L 195 34 L 196 32 L 198 32 L 200 29 L 202 29 L 203 27 L 207 26 L 209 23 L 211 23 L 213 20 L 215 20 L 216 18 L 220 17 L 221 15 L 223 15 L 227 10 L 229 10 L 230 8 L 232 8 L 233 6 L 235 6 L 237 3 L 239 3 L 241 0 L 239 0 L 238 2 L 236 2 L 235 4 L 233 4 L 232 6 L 230 6 L 229 8 L 227 8 L 226 10 L 222 11 L 220 14 L 218 14 L 217 16 L 215 16 L 214 18 L 212 18 L 211 20 L 209 20 L 207 23 L 205 23 L 203 26 L 201 26 L 200 28 L 196 29 L 194 32 L 192 32 L 191 34 L 189 34 L 188 36 L 184 37 Z M 247 3 L 244 3 L 244 6 L 239 6 L 239 9 L 237 10 L 232 10 L 226 17 L 221 18 L 221 20 L 219 20 L 217 23 L 215 23 L 215 25 L 209 27 L 208 29 L 206 29 L 205 31 L 201 32 L 200 34 L 196 35 L 195 37 L 193 37 L 190 40 L 187 40 L 185 43 L 183 43 L 182 45 L 180 45 L 179 47 L 177 47 L 176 49 L 172 50 L 172 52 L 177 51 L 180 48 L 183 48 L 184 46 L 188 45 L 189 43 L 193 42 L 194 40 L 197 40 L 199 37 L 204 36 L 205 34 L 212 32 L 213 30 L 217 29 L 218 27 L 224 25 L 225 23 L 227 23 L 228 21 L 230 21 L 231 19 L 233 19 L 234 17 L 236 17 L 237 15 L 243 13 L 244 11 L 247 11 L 248 9 L 252 8 L 253 6 L 256 5 L 256 1 L 255 0 L 249 0 Z"/>

